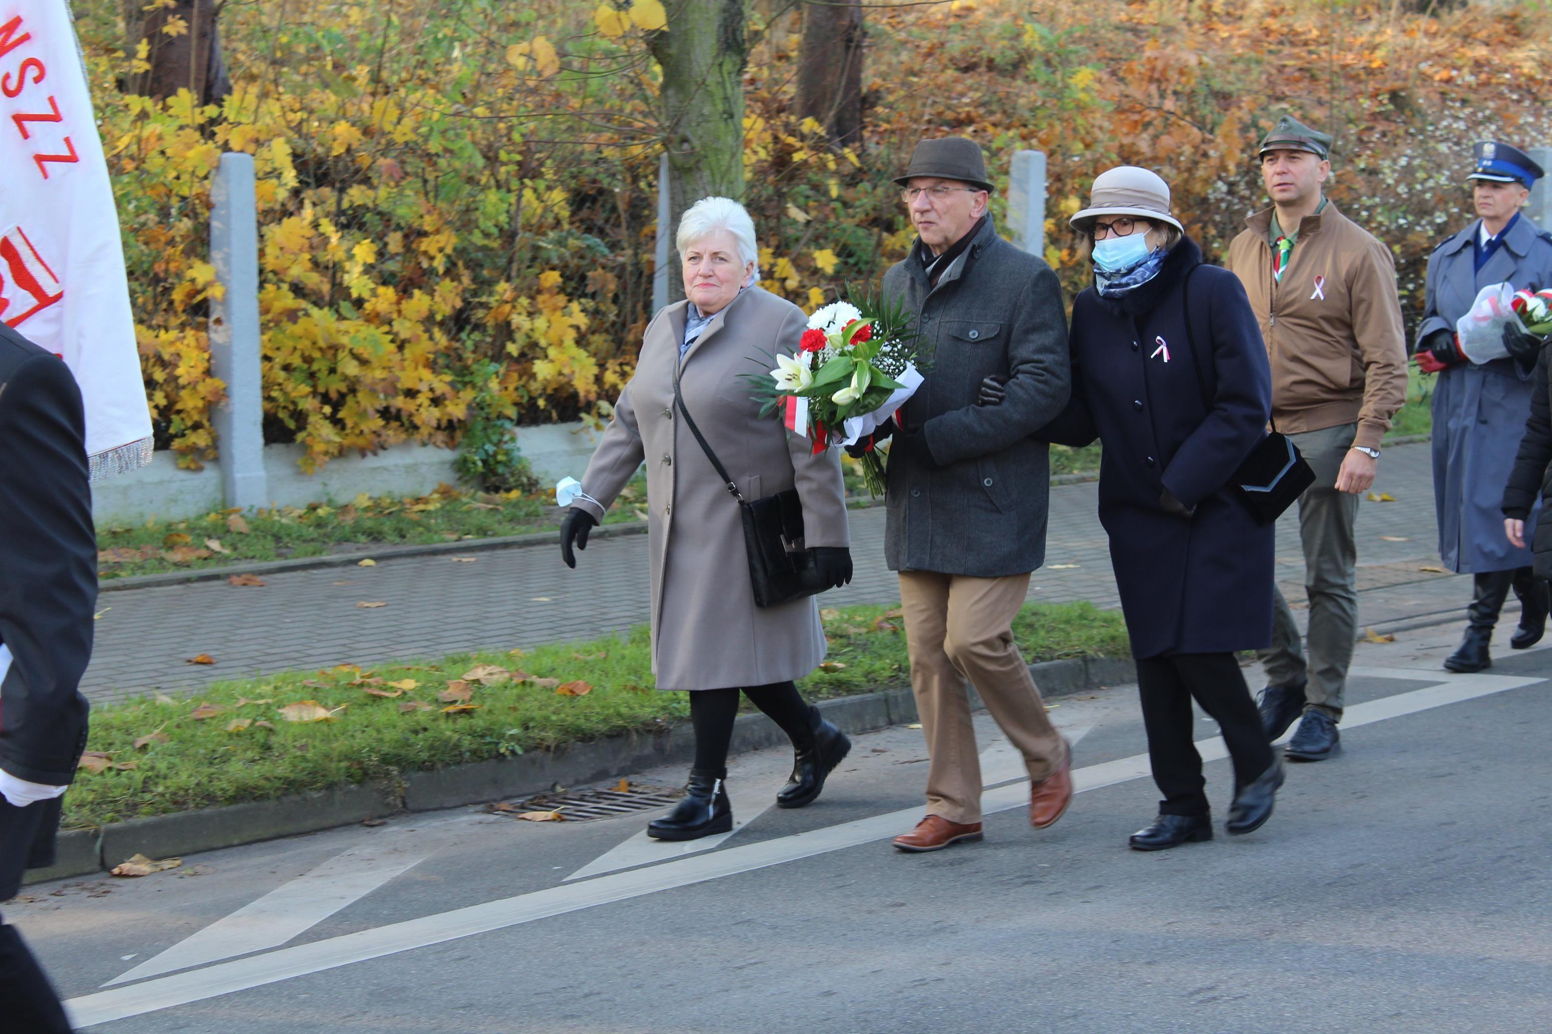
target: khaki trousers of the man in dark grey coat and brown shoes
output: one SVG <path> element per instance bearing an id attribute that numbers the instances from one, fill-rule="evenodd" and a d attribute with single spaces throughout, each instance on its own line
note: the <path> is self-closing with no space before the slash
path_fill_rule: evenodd
<path id="1" fill-rule="evenodd" d="M 1009 743 L 1040 781 L 1066 761 L 1066 743 L 1013 643 L 1013 617 L 1029 575 L 968 578 L 931 570 L 900 572 L 900 606 L 911 657 L 911 690 L 930 755 L 927 814 L 981 822 L 981 757 L 970 722 L 975 685 Z"/>

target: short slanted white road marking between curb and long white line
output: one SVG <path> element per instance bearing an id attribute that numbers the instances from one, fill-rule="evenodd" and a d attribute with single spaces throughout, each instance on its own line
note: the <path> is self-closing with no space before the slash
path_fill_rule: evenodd
<path id="1" fill-rule="evenodd" d="M 279 947 L 425 857 L 405 854 L 386 843 L 351 848 L 102 986 Z"/>

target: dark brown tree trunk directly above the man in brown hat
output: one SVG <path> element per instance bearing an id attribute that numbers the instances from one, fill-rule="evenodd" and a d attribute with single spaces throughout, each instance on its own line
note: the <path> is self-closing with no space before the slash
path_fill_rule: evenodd
<path id="1" fill-rule="evenodd" d="M 838 144 L 855 147 L 861 143 L 861 0 L 804 5 L 798 113 L 824 126 L 830 140 Z"/>

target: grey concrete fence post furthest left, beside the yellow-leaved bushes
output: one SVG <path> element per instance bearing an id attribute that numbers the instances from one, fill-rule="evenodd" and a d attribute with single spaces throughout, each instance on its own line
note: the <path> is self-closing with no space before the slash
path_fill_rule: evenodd
<path id="1" fill-rule="evenodd" d="M 259 357 L 259 217 L 253 155 L 225 153 L 216 167 L 210 254 L 225 291 L 210 307 L 210 369 L 227 384 L 214 408 L 220 487 L 228 507 L 268 504 Z"/>

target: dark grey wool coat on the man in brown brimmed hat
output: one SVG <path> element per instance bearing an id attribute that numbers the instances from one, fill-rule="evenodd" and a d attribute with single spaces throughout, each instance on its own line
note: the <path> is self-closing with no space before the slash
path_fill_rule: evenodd
<path id="1" fill-rule="evenodd" d="M 990 215 L 931 287 L 913 248 L 883 291 L 919 313 L 933 366 L 905 405 L 936 470 L 891 454 L 885 557 L 891 570 L 995 578 L 1046 558 L 1049 446 L 1029 436 L 1072 389 L 1062 285 L 1044 260 L 996 236 Z M 975 405 L 981 380 L 1009 377 L 999 406 Z"/>

